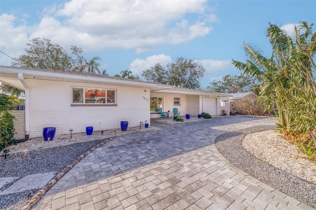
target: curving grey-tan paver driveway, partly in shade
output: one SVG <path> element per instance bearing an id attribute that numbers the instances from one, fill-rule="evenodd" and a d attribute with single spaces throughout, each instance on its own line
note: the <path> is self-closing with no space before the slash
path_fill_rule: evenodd
<path id="1" fill-rule="evenodd" d="M 95 149 L 34 209 L 311 209 L 229 163 L 217 136 L 274 120 L 216 117 L 128 134 Z"/>

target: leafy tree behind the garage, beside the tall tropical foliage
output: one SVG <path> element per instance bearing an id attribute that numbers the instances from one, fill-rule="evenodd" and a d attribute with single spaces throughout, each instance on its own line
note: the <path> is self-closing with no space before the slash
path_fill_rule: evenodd
<path id="1" fill-rule="evenodd" d="M 238 74 L 238 75 L 226 75 L 223 76 L 221 81 L 216 81 L 215 79 L 210 82 L 210 86 L 207 89 L 213 92 L 219 93 L 240 93 L 240 92 L 250 92 L 255 91 L 254 86 L 255 79 L 253 76 L 248 74 Z M 258 91 L 255 91 L 258 92 Z"/>

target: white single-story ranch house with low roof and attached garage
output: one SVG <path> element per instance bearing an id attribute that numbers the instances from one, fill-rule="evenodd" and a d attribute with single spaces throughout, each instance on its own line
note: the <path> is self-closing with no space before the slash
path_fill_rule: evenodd
<path id="1" fill-rule="evenodd" d="M 74 71 L 0 66 L 0 82 L 25 91 L 25 134 L 42 136 L 44 127 L 56 134 L 85 132 L 149 123 L 160 117 L 158 108 L 178 108 L 181 115 L 201 112 L 220 115 L 223 93 L 178 88 L 170 85 Z M 226 107 L 227 109 L 227 107 Z M 229 107 L 228 107 L 229 110 Z"/>

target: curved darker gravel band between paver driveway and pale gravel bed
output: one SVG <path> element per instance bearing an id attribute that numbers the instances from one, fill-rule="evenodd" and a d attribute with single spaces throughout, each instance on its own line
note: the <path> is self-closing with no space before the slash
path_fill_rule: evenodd
<path id="1" fill-rule="evenodd" d="M 242 146 L 242 140 L 247 134 L 274 129 L 274 126 L 255 126 L 225 133 L 216 138 L 215 146 L 227 160 L 247 174 L 302 203 L 316 208 L 315 183 L 304 180 L 258 159 Z"/>

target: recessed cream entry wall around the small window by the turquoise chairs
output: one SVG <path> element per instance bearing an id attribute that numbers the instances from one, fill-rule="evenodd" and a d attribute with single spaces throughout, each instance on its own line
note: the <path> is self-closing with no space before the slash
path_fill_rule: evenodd
<path id="1" fill-rule="evenodd" d="M 162 97 L 162 111 L 172 112 L 173 108 L 178 108 L 178 111 L 180 111 L 181 116 L 185 116 L 187 114 L 187 95 L 151 92 L 150 96 Z M 181 105 L 173 105 L 173 98 L 180 98 Z M 151 114 L 150 117 L 157 118 L 160 117 L 160 114 Z"/>

